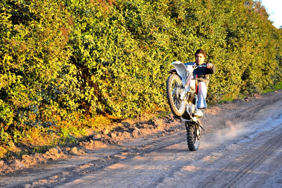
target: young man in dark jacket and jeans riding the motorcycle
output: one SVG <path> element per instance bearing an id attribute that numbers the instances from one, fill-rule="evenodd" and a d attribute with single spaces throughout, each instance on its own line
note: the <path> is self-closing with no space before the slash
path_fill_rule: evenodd
<path id="1" fill-rule="evenodd" d="M 198 49 L 195 52 L 195 62 L 197 65 L 206 65 L 207 67 L 198 67 L 193 71 L 193 75 L 198 75 L 198 106 L 194 113 L 195 117 L 203 116 L 203 108 L 207 108 L 206 97 L 207 87 L 209 85 L 209 74 L 214 74 L 216 68 L 211 63 L 204 63 L 206 52 L 203 49 Z M 175 72 L 175 69 L 171 69 L 170 73 Z"/>

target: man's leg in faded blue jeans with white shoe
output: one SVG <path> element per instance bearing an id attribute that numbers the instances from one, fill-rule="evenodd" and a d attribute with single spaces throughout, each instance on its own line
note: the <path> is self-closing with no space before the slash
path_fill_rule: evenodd
<path id="1" fill-rule="evenodd" d="M 203 116 L 202 109 L 207 108 L 206 97 L 207 97 L 206 84 L 204 82 L 199 82 L 198 84 L 198 106 L 197 106 L 198 109 L 194 113 L 195 117 Z"/>

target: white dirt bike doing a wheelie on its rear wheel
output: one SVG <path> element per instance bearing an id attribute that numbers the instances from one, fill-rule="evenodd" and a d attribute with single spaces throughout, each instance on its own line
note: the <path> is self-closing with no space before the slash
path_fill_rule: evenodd
<path id="1" fill-rule="evenodd" d="M 194 116 L 197 110 L 197 75 L 193 75 L 193 71 L 198 67 L 206 67 L 205 65 L 197 66 L 195 62 L 182 63 L 173 62 L 175 68 L 166 82 L 166 93 L 169 107 L 172 113 L 185 122 L 187 131 L 187 144 L 190 151 L 195 151 L 199 147 L 201 139 L 201 129 L 205 130 L 199 118 Z M 203 118 L 204 118 L 203 110 Z"/>

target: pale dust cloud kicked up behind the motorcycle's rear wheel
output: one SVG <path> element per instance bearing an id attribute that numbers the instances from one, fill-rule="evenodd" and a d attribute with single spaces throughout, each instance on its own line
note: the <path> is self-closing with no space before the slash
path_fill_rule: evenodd
<path id="1" fill-rule="evenodd" d="M 226 122 L 225 124 L 229 127 L 222 130 L 218 130 L 215 133 L 202 135 L 200 142 L 201 147 L 221 144 L 224 141 L 230 141 L 236 138 L 237 136 L 240 136 L 249 131 L 249 128 L 242 124 L 234 125 L 230 121 Z"/>

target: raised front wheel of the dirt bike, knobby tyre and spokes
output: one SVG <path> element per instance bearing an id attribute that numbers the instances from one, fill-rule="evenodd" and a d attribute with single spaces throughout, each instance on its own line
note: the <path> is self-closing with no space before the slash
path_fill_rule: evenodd
<path id="1" fill-rule="evenodd" d="M 176 116 L 181 116 L 185 111 L 184 100 L 179 101 L 182 93 L 181 80 L 178 75 L 171 74 L 166 81 L 167 100 L 172 113 Z"/>

